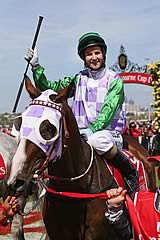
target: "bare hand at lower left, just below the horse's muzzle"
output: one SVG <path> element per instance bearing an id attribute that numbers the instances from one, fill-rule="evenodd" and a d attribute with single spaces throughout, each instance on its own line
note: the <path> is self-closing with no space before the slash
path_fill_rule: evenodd
<path id="1" fill-rule="evenodd" d="M 19 203 L 16 197 L 8 196 L 4 201 L 3 208 L 8 217 L 13 217 L 19 211 Z"/>

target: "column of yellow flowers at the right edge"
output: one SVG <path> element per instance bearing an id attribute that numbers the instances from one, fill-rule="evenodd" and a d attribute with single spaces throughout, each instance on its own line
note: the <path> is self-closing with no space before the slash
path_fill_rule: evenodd
<path id="1" fill-rule="evenodd" d="M 154 96 L 154 122 L 155 129 L 160 132 L 160 61 L 153 62 L 148 64 L 148 70 L 151 74 L 151 86 L 153 87 L 153 96 Z"/>

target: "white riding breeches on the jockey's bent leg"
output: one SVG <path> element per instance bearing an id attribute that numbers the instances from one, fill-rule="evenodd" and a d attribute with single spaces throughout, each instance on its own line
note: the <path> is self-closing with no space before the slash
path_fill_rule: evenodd
<path id="1" fill-rule="evenodd" d="M 81 131 L 82 133 L 83 131 Z M 100 130 L 88 137 L 88 143 L 97 151 L 99 155 L 108 152 L 115 143 L 118 149 L 122 150 L 123 139 L 119 132 Z"/>

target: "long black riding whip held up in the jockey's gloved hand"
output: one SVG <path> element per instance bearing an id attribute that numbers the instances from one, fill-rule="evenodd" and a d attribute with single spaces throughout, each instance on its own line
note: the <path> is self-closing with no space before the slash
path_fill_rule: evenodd
<path id="1" fill-rule="evenodd" d="M 33 39 L 33 43 L 32 43 L 32 47 L 31 47 L 32 50 L 35 49 L 36 42 L 37 42 L 38 35 L 39 35 L 39 31 L 40 31 L 40 27 L 41 27 L 41 24 L 42 24 L 42 20 L 43 20 L 43 17 L 39 16 L 37 29 L 36 29 L 34 39 Z M 28 68 L 29 68 L 29 63 L 30 63 L 30 61 L 28 61 L 28 63 L 27 63 L 27 66 L 26 66 L 26 69 L 25 69 L 25 72 L 24 72 L 24 76 L 27 74 L 27 71 L 28 71 Z M 14 104 L 14 107 L 13 107 L 13 110 L 12 110 L 13 113 L 16 112 L 16 109 L 17 109 L 17 106 L 18 106 L 18 103 L 19 103 L 19 99 L 20 99 L 20 96 L 21 96 L 21 93 L 22 93 L 22 90 L 23 90 L 23 86 L 24 86 L 24 77 L 22 79 L 22 82 L 20 84 L 20 87 L 19 87 L 19 90 L 18 90 L 18 93 L 17 93 L 16 101 L 15 101 L 15 104 Z"/>

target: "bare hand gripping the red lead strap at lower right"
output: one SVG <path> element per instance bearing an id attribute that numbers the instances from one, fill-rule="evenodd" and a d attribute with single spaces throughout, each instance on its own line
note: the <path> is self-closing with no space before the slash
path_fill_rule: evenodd
<path id="1" fill-rule="evenodd" d="M 125 201 L 126 193 L 127 190 L 124 190 L 122 187 L 107 190 L 107 205 L 119 207 Z"/>

